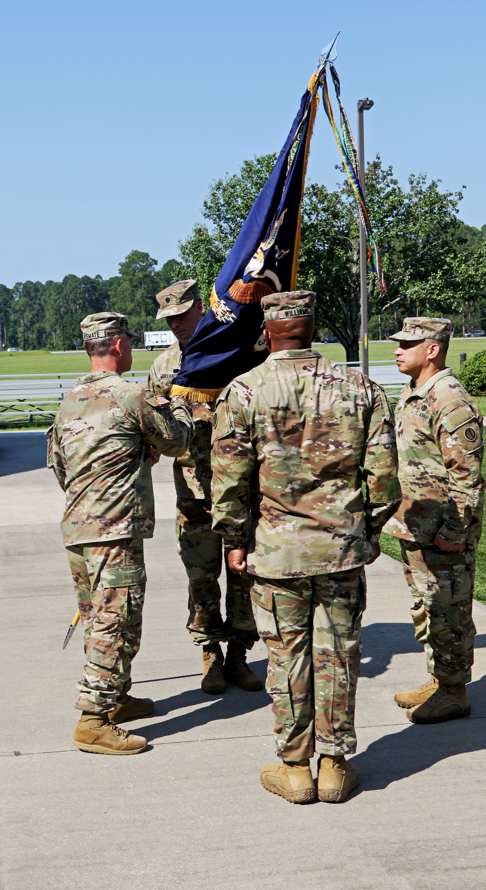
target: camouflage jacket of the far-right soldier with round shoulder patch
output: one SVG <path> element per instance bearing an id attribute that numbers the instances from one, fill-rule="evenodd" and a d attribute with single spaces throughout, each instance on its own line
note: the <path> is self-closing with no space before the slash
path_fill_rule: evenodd
<path id="1" fill-rule="evenodd" d="M 407 384 L 395 408 L 402 504 L 389 534 L 432 545 L 437 532 L 470 548 L 482 531 L 482 414 L 450 368 Z"/>

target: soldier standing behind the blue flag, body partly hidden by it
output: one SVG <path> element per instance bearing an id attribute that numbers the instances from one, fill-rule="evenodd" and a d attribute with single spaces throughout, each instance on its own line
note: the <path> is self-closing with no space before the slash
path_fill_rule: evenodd
<path id="1" fill-rule="evenodd" d="M 166 395 L 179 372 L 185 349 L 203 316 L 197 282 L 177 281 L 156 295 L 157 319 L 165 318 L 176 342 L 157 356 L 147 387 Z M 177 492 L 177 546 L 189 580 L 187 630 L 203 647 L 203 692 L 219 694 L 231 680 L 247 692 L 263 684 L 246 663 L 246 651 L 258 640 L 251 611 L 250 578 L 228 570 L 226 621 L 220 611 L 218 578 L 222 567 L 222 541 L 211 530 L 211 430 L 214 401 L 191 401 L 195 438 L 182 457 L 174 461 Z M 226 660 L 220 643 L 227 642 Z"/>

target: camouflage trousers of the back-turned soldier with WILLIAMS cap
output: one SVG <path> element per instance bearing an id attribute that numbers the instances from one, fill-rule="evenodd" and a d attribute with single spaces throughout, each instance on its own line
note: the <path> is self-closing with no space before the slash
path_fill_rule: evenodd
<path id="1" fill-rule="evenodd" d="M 251 599 L 267 643 L 277 755 L 295 763 L 315 751 L 354 754 L 363 566 L 306 578 L 257 577 Z"/>

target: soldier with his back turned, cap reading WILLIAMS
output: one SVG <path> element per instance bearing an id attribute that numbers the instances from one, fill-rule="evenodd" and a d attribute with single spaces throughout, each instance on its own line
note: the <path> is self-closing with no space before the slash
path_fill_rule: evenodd
<path id="1" fill-rule="evenodd" d="M 282 765 L 261 782 L 292 803 L 358 784 L 355 692 L 363 566 L 400 501 L 394 421 L 377 384 L 311 349 L 314 294 L 265 296 L 270 355 L 219 398 L 212 437 L 213 528 L 248 570 Z M 363 499 L 362 484 L 366 497 Z M 250 541 L 247 545 L 247 537 Z"/>

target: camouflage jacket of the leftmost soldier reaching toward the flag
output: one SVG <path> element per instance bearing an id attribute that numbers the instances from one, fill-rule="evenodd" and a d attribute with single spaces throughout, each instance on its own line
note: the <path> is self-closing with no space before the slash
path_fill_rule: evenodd
<path id="1" fill-rule="evenodd" d="M 66 491 L 65 546 L 151 538 L 155 511 L 150 446 L 183 454 L 194 427 L 171 404 L 114 371 L 80 377 L 60 405 L 48 465 Z"/>

